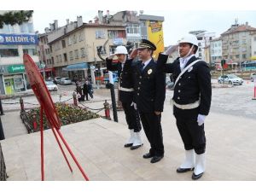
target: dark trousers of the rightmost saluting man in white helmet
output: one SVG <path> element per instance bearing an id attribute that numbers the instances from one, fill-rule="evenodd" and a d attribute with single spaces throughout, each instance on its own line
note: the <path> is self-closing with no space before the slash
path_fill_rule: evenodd
<path id="1" fill-rule="evenodd" d="M 180 109 L 174 106 L 173 113 L 184 148 L 186 150 L 194 148 L 196 154 L 205 153 L 207 140 L 204 124 L 199 126 L 197 123 L 198 108 Z"/>

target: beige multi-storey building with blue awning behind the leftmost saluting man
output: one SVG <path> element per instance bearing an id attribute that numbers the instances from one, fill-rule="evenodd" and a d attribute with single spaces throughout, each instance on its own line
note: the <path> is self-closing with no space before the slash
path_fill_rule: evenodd
<path id="1" fill-rule="evenodd" d="M 82 17 L 75 22 L 67 20 L 66 26 L 49 33 L 48 40 L 55 76 L 90 76 L 94 84 L 95 70 L 106 67 L 100 56 L 105 59 L 118 45 L 127 42 L 125 25 L 102 24 L 98 20 L 83 23 Z"/>

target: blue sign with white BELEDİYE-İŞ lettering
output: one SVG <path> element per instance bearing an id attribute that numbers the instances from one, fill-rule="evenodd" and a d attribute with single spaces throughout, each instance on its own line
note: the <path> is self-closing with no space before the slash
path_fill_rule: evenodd
<path id="1" fill-rule="evenodd" d="M 0 34 L 0 44 L 38 44 L 38 35 Z"/>

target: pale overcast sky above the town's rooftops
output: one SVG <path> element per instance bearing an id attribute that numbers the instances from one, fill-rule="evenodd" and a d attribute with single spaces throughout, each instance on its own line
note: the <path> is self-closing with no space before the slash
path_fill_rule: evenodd
<path id="1" fill-rule="evenodd" d="M 103 15 L 107 9 L 102 9 Z M 119 10 L 111 10 L 110 15 L 115 14 Z M 238 19 L 239 24 L 248 22 L 250 26 L 256 28 L 256 10 L 217 10 L 217 11 L 193 11 L 193 10 L 143 10 L 145 15 L 164 16 L 164 40 L 165 46 L 169 44 L 177 44 L 177 40 L 183 34 L 189 31 L 206 30 L 207 32 L 216 32 L 216 37 L 225 32 Z M 137 10 L 139 12 L 139 10 Z M 75 21 L 78 15 L 83 16 L 83 21 L 93 20 L 97 15 L 97 10 L 34 10 L 33 22 L 34 28 L 40 33 L 44 32 L 45 27 L 49 27 L 49 23 L 58 20 L 59 26 L 66 25 L 66 19 Z"/>

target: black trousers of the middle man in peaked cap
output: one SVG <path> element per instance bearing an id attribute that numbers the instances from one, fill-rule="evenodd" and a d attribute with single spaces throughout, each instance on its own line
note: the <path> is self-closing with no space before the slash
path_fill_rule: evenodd
<path id="1" fill-rule="evenodd" d="M 161 115 L 155 113 L 140 112 L 143 129 L 150 143 L 149 153 L 156 156 L 164 155 L 163 133 L 161 127 Z"/>

